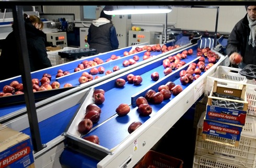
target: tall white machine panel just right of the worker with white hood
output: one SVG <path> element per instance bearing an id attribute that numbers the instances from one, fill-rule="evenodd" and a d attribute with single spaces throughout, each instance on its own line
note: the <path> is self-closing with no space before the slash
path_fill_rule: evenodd
<path id="1" fill-rule="evenodd" d="M 131 15 L 112 16 L 112 22 L 118 35 L 119 48 L 128 46 L 128 31 L 132 28 L 131 20 Z"/>

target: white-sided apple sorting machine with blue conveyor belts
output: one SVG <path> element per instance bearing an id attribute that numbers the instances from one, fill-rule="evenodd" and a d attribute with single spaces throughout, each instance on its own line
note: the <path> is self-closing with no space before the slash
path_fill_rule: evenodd
<path id="1" fill-rule="evenodd" d="M 187 40 L 188 37 L 178 37 L 176 40 L 166 43 L 166 45 L 179 44 L 180 40 L 184 39 Z M 57 89 L 59 90 L 57 93 L 52 93 L 53 90 L 42 91 L 42 94 L 38 92 L 38 99 L 37 93 L 34 94 L 37 100 L 39 134 L 45 146 L 42 150 L 34 153 L 36 167 L 133 167 L 201 97 L 204 92 L 205 77 L 213 73 L 218 65 L 224 65 L 226 56 L 212 49 L 220 56 L 219 61 L 212 68 L 203 72 L 201 77 L 193 83 L 182 85 L 183 91 L 177 96 L 172 95 L 169 100 L 165 100 L 161 104 L 152 104 L 153 112 L 150 116 L 141 117 L 138 115 L 137 107 L 134 106 L 136 98 L 145 95 L 148 89 L 156 90 L 158 86 L 164 85 L 168 81 L 173 81 L 176 85 L 180 84 L 179 71 L 186 69 L 192 62 L 198 62 L 197 47 L 206 47 L 211 43 L 211 39 L 191 40 L 187 44 L 166 53 L 152 52 L 151 55 L 155 56 L 144 61 L 142 57 L 145 51 L 142 51 L 136 53 L 139 56 L 139 62 L 128 67 L 122 67 L 122 62 L 124 59 L 132 58 L 135 54 L 129 56 L 123 56 L 122 54 L 124 51 L 133 50 L 135 46 L 88 56 L 83 59 L 92 60 L 95 57 L 100 57 L 106 60 L 112 54 L 120 55 L 121 58 L 119 59 L 101 64 L 106 70 L 112 69 L 114 65 L 119 65 L 120 70 L 109 75 L 103 74 L 100 78 L 82 85 L 79 85 L 78 77 L 81 76 L 83 71 L 89 71 L 90 68 L 77 72 L 73 72 L 73 70 L 83 59 L 31 73 L 31 78 L 41 78 L 44 73 L 49 73 L 53 77 L 52 80 L 61 83 L 61 87 L 66 82 L 73 85 L 73 87 L 66 90 Z M 188 49 L 192 49 L 193 54 L 184 59 L 187 64 L 165 76 L 162 61 L 171 55 L 176 55 Z M 72 73 L 54 78 L 58 69 L 69 70 Z M 153 71 L 159 72 L 160 78 L 158 81 L 151 80 L 150 74 Z M 134 86 L 126 82 L 123 88 L 116 88 L 114 81 L 117 78 L 126 79 L 128 74 L 141 75 L 143 78 L 141 85 Z M 21 82 L 21 77 L 0 81 L 0 88 L 13 80 Z M 97 88 L 106 91 L 106 100 L 99 105 L 102 110 L 100 121 L 94 124 L 88 135 L 98 135 L 100 145 L 84 140 L 82 135 L 77 133 L 77 123 L 81 120 L 83 109 L 93 102 L 92 92 Z M 1 98 L 0 101 L 7 102 L 6 104 L 1 103 L 0 122 L 30 135 L 31 129 L 28 124 L 26 104 L 22 98 L 19 98 L 20 102 L 17 103 L 15 101 L 16 96 L 10 96 L 13 97 L 12 100 Z M 131 105 L 131 111 L 127 116 L 119 117 L 115 113 L 115 109 L 121 103 Z M 141 121 L 143 125 L 129 134 L 127 127 L 133 121 Z"/>

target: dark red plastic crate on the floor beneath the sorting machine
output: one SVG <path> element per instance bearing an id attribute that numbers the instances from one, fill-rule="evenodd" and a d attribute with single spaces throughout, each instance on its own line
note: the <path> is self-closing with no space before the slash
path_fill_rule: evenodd
<path id="1" fill-rule="evenodd" d="M 150 165 L 155 165 L 157 168 L 182 168 L 183 161 L 166 154 L 149 150 L 134 168 L 147 168 Z"/>

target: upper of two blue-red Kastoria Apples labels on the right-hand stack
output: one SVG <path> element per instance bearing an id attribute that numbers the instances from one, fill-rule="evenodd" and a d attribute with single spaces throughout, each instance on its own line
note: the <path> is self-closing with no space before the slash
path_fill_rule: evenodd
<path id="1" fill-rule="evenodd" d="M 207 105 L 205 119 L 226 122 L 231 124 L 245 125 L 246 111 L 227 109 L 214 105 Z"/>

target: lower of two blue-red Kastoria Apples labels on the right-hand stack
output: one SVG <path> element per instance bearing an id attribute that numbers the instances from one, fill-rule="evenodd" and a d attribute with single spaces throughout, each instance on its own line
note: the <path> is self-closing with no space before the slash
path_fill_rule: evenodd
<path id="1" fill-rule="evenodd" d="M 203 134 L 214 135 L 232 140 L 240 140 L 242 126 L 229 125 L 214 121 L 204 120 Z"/>

